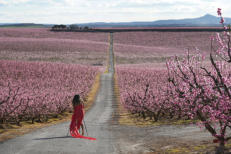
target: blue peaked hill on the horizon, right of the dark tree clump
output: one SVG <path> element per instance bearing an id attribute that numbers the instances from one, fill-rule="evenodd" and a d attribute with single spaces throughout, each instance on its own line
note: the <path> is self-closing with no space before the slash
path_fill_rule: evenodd
<path id="1" fill-rule="evenodd" d="M 79 26 L 90 27 L 216 27 L 220 26 L 220 18 L 206 14 L 199 18 L 176 19 L 176 20 L 157 20 L 151 22 L 96 22 L 77 24 Z M 231 18 L 225 18 L 227 24 L 231 24 Z"/>

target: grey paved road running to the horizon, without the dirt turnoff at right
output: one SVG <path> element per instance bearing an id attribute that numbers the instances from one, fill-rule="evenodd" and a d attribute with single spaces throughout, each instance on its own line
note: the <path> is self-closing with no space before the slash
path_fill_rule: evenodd
<path id="1" fill-rule="evenodd" d="M 101 86 L 93 107 L 86 113 L 88 135 L 96 141 L 66 136 L 69 122 L 57 124 L 0 144 L 0 154 L 116 153 L 110 119 L 113 112 L 113 39 L 110 39 L 109 73 L 101 76 Z"/>

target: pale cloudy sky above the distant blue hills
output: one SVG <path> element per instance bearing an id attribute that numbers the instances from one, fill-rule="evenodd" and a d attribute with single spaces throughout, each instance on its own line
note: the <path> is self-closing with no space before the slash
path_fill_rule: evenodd
<path id="1" fill-rule="evenodd" d="M 216 15 L 218 7 L 231 16 L 230 0 L 0 0 L 0 23 L 154 21 Z"/>

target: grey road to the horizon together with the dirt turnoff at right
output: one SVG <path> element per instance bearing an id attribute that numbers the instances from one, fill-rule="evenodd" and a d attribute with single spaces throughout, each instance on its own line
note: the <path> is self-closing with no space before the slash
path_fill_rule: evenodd
<path id="1" fill-rule="evenodd" d="M 113 92 L 113 34 L 110 35 L 109 73 L 102 74 L 94 105 L 85 115 L 88 136 L 96 141 L 67 136 L 70 122 L 65 122 L 0 143 L 0 154 L 133 154 L 210 139 L 207 132 L 194 125 L 139 128 L 120 126 L 113 120 L 117 106 Z"/>

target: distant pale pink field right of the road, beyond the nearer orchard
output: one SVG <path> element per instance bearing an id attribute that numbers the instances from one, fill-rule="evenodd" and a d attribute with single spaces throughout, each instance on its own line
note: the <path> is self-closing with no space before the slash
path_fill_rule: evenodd
<path id="1" fill-rule="evenodd" d="M 162 63 L 173 55 L 200 50 L 210 52 L 214 32 L 121 32 L 114 34 L 118 64 Z"/>

